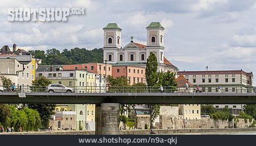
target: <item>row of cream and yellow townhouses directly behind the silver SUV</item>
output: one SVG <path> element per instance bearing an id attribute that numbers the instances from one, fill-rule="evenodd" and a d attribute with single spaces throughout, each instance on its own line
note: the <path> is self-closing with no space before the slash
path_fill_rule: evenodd
<path id="1" fill-rule="evenodd" d="M 64 66 L 39 66 L 36 78 L 45 76 L 53 84 L 63 84 L 77 93 L 105 92 L 106 81 L 101 75 L 88 70 L 63 70 Z"/>

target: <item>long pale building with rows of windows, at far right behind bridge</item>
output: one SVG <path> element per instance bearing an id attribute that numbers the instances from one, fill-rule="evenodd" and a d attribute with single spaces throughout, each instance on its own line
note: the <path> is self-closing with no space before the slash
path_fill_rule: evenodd
<path id="1" fill-rule="evenodd" d="M 253 72 L 243 70 L 219 71 L 179 71 L 193 85 L 199 85 L 203 92 L 218 93 L 218 86 L 222 93 L 252 92 Z M 233 115 L 243 110 L 243 105 L 214 105 L 216 109 L 228 108 Z"/>

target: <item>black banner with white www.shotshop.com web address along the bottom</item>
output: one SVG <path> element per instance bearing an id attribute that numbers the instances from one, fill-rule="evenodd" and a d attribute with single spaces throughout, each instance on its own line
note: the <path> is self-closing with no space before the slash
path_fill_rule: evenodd
<path id="1" fill-rule="evenodd" d="M 255 145 L 255 135 L 0 135 L 1 145 Z"/>

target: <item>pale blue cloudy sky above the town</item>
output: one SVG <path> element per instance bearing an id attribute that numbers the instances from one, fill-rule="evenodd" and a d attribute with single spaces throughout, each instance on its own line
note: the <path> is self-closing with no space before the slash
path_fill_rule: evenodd
<path id="1" fill-rule="evenodd" d="M 9 7 L 84 7 L 67 22 L 8 22 Z M 146 27 L 160 22 L 164 53 L 179 70 L 240 70 L 256 74 L 255 0 L 0 0 L 0 46 L 26 50 L 102 48 L 108 23 L 122 28 L 122 46 L 146 44 Z"/>

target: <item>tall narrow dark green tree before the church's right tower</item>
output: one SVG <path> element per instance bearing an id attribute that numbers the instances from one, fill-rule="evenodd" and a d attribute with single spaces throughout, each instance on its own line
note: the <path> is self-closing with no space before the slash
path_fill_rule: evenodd
<path id="1" fill-rule="evenodd" d="M 158 59 L 155 54 L 150 52 L 146 63 L 146 81 L 148 86 L 154 86 L 158 80 Z"/>

